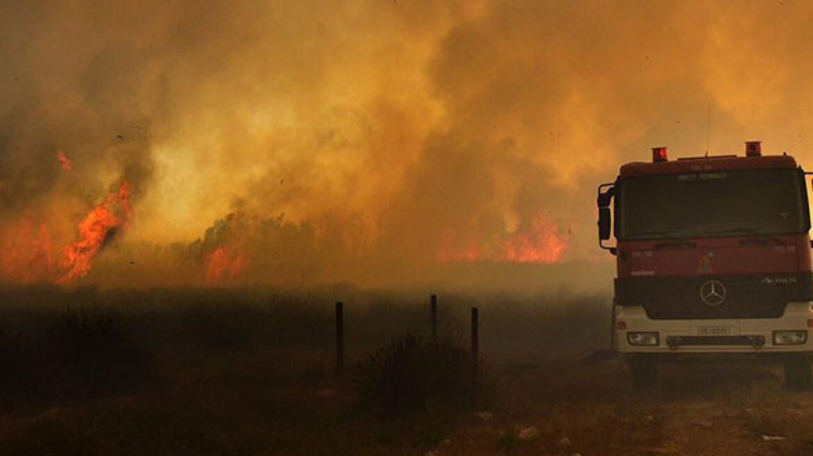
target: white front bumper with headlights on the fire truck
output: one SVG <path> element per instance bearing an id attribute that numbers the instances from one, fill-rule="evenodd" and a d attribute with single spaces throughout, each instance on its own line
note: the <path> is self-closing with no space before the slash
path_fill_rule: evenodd
<path id="1" fill-rule="evenodd" d="M 620 353 L 651 354 L 802 354 L 813 353 L 810 302 L 788 303 L 779 318 L 652 320 L 640 306 L 616 306 Z M 775 332 L 793 331 L 805 341 L 775 342 Z M 642 334 L 642 336 L 641 336 Z M 653 340 L 654 339 L 654 340 Z M 646 342 L 646 345 L 634 342 Z"/>

